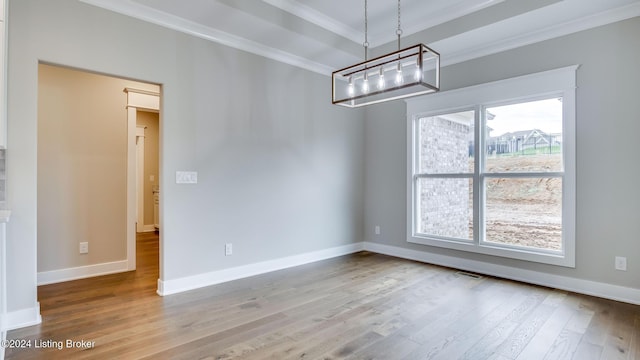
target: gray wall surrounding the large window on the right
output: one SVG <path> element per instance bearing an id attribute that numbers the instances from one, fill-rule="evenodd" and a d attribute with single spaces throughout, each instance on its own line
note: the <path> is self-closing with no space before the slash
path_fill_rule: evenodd
<path id="1" fill-rule="evenodd" d="M 577 91 L 576 268 L 406 241 L 406 110 L 367 109 L 365 239 L 435 254 L 640 288 L 640 18 L 446 67 L 443 90 L 582 64 Z M 374 226 L 381 226 L 375 235 Z M 628 271 L 614 270 L 614 256 Z"/>

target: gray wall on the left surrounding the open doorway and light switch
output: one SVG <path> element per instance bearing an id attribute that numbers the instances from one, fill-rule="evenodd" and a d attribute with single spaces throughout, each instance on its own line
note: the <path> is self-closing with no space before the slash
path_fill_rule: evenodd
<path id="1" fill-rule="evenodd" d="M 36 305 L 38 61 L 162 85 L 163 280 L 362 240 L 364 111 L 328 77 L 72 0 L 9 18 L 9 311 Z"/>

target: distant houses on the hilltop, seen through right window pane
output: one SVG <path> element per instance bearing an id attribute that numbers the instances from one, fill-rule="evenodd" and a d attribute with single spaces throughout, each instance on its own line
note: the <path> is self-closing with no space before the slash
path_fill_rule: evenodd
<path id="1" fill-rule="evenodd" d="M 487 153 L 509 154 L 516 152 L 549 153 L 557 152 L 562 144 L 562 134 L 546 133 L 539 129 L 508 132 L 490 137 L 487 141 Z"/>

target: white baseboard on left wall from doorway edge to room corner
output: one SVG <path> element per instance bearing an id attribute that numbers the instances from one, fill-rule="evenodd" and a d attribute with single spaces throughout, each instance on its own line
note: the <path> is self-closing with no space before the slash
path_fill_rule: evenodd
<path id="1" fill-rule="evenodd" d="M 309 264 L 337 256 L 352 254 L 362 251 L 363 249 L 363 243 L 355 243 L 174 280 L 158 280 L 158 295 L 171 295 L 227 281 L 242 279 L 249 276 L 260 275 L 271 271 L 286 269 L 293 266 Z"/>

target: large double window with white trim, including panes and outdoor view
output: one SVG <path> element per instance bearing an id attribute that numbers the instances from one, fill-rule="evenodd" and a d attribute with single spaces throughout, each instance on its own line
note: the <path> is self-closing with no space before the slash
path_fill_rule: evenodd
<path id="1" fill-rule="evenodd" d="M 575 263 L 577 67 L 408 101 L 408 241 Z"/>

